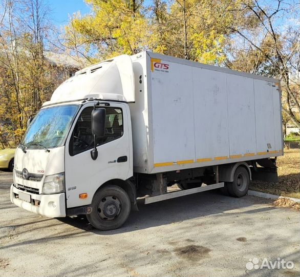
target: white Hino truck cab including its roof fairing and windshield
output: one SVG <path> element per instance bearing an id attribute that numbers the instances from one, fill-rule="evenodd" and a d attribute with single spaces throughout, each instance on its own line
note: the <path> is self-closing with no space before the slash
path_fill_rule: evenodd
<path id="1" fill-rule="evenodd" d="M 131 59 L 123 55 L 78 71 L 60 85 L 30 122 L 16 150 L 11 202 L 50 217 L 89 214 L 97 190 L 109 183 L 122 191 L 119 197 L 100 199 L 100 218 L 115 219 L 122 206 L 129 207 L 128 213 L 130 201 L 136 205 L 129 181 L 133 149 L 127 104 L 134 100 L 133 82 Z M 94 121 L 102 126 L 94 129 L 101 137 L 92 132 L 92 114 L 100 109 L 102 118 Z"/>

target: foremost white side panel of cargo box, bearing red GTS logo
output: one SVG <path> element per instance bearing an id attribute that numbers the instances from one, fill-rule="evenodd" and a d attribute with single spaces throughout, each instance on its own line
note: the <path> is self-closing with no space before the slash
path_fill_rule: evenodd
<path id="1" fill-rule="evenodd" d="M 192 67 L 152 61 L 154 164 L 195 161 Z"/>

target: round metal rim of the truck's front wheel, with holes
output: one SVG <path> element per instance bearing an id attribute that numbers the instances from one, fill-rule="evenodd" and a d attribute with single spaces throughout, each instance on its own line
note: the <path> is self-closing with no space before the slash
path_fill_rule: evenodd
<path id="1" fill-rule="evenodd" d="M 101 220 L 111 221 L 116 219 L 122 209 L 121 202 L 114 195 L 107 195 L 100 200 L 97 213 Z"/>

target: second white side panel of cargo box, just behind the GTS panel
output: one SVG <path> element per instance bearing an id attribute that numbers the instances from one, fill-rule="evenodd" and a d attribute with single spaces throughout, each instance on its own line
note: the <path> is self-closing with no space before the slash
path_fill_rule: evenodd
<path id="1" fill-rule="evenodd" d="M 229 158 L 226 74 L 194 67 L 196 162 Z"/>

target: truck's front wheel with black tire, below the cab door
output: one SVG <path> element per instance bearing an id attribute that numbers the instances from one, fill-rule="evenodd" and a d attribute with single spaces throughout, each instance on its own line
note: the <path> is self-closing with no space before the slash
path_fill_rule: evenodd
<path id="1" fill-rule="evenodd" d="M 122 188 L 109 185 L 100 188 L 92 200 L 92 212 L 87 219 L 96 229 L 101 231 L 119 228 L 130 214 L 130 199 Z"/>

